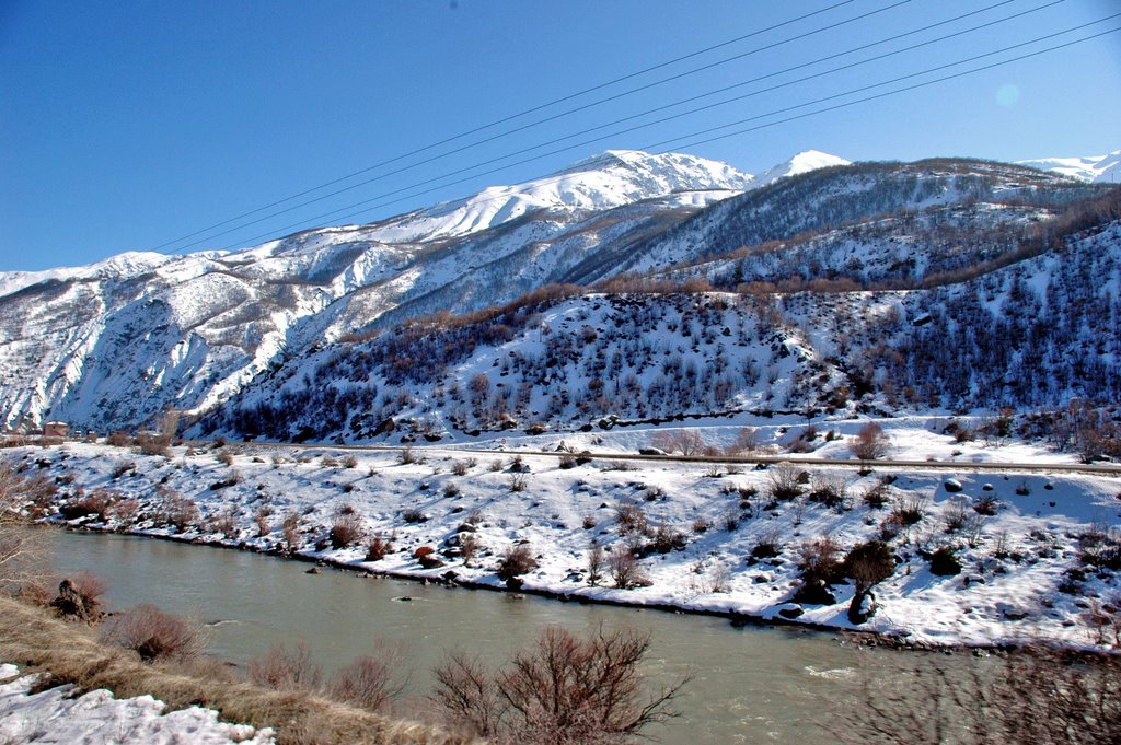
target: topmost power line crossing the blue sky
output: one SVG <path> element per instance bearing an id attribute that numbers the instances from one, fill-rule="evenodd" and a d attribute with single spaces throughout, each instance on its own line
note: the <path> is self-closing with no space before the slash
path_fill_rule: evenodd
<path id="1" fill-rule="evenodd" d="M 905 1 L 909 2 L 910 0 L 905 0 Z M 426 146 L 424 146 L 421 148 L 417 148 L 416 150 L 410 150 L 409 152 L 405 152 L 405 153 L 396 156 L 393 158 L 389 158 L 388 160 L 382 160 L 382 161 L 377 162 L 377 164 L 374 164 L 372 166 L 367 166 L 365 168 L 355 170 L 355 171 L 353 171 L 351 174 L 348 174 L 345 176 L 340 176 L 337 178 L 331 179 L 328 181 L 319 184 L 318 186 L 313 186 L 312 188 L 305 189 L 305 190 L 299 192 L 298 194 L 294 194 L 291 196 L 284 197 L 282 199 L 277 199 L 276 202 L 271 202 L 271 203 L 266 204 L 266 205 L 263 205 L 261 207 L 257 207 L 256 209 L 250 209 L 249 212 L 242 213 L 242 214 L 237 215 L 234 217 L 230 217 L 230 218 L 224 220 L 224 221 L 222 221 L 220 223 L 215 223 L 213 225 L 210 225 L 209 227 L 203 227 L 202 230 L 195 231 L 194 233 L 189 233 L 189 234 L 184 235 L 182 238 L 177 238 L 177 239 L 175 239 L 173 241 L 168 241 L 167 243 L 163 243 L 160 245 L 157 245 L 152 250 L 154 251 L 159 251 L 160 249 L 167 248 L 167 246 L 169 246 L 169 245 L 172 245 L 174 243 L 178 243 L 179 241 L 185 241 L 187 239 L 195 238 L 196 235 L 201 235 L 202 233 L 206 233 L 206 232 L 209 232 L 211 230 L 214 230 L 215 227 L 221 227 L 223 225 L 228 225 L 228 224 L 230 224 L 232 222 L 237 222 L 239 220 L 242 220 L 243 217 L 249 217 L 250 215 L 254 215 L 254 214 L 257 214 L 259 212 L 263 212 L 265 209 L 268 209 L 270 207 L 275 207 L 277 205 L 281 205 L 281 204 L 284 204 L 286 202 L 291 202 L 293 199 L 298 199 L 302 196 L 307 196 L 308 194 L 313 194 L 315 192 L 318 192 L 319 189 L 324 189 L 324 188 L 327 188 L 330 186 L 334 186 L 335 184 L 340 184 L 340 183 L 345 181 L 348 179 L 354 178 L 355 176 L 361 176 L 362 174 L 367 174 L 367 173 L 369 173 L 371 170 L 374 170 L 377 168 L 381 168 L 383 166 L 389 166 L 389 165 L 392 165 L 395 162 L 399 162 L 401 160 L 405 160 L 406 158 L 410 158 L 413 156 L 420 155 L 423 152 L 427 152 L 428 150 L 433 150 L 433 149 L 438 148 L 441 146 L 448 145 L 451 142 L 454 142 L 456 140 L 461 140 L 461 139 L 463 139 L 465 137 L 470 137 L 472 134 L 478 134 L 479 132 L 485 131 L 485 130 L 491 129 L 493 127 L 498 127 L 500 124 L 504 124 L 504 123 L 513 121 L 516 119 L 520 119 L 520 118 L 526 117 L 528 114 L 531 114 L 531 113 L 535 113 L 535 112 L 538 112 L 538 111 L 543 111 L 543 110 L 548 109 L 550 106 L 555 106 L 555 105 L 557 105 L 559 103 L 564 103 L 566 101 L 572 101 L 574 99 L 578 99 L 580 96 L 587 95 L 589 93 L 594 93 L 595 91 L 601 91 L 603 89 L 611 87 L 612 85 L 617 85 L 619 83 L 622 83 L 622 82 L 626 82 L 626 81 L 629 81 L 629 80 L 633 80 L 636 77 L 640 77 L 642 75 L 646 75 L 647 73 L 651 73 L 651 72 L 655 72 L 657 69 L 661 69 L 664 67 L 669 67 L 671 65 L 676 65 L 679 62 L 685 62 L 686 59 L 692 59 L 693 57 L 698 57 L 701 55 L 707 54 L 710 52 L 714 52 L 716 49 L 721 49 L 721 48 L 726 47 L 726 46 L 731 46 L 733 44 L 739 44 L 740 41 L 743 41 L 745 39 L 750 39 L 750 38 L 753 38 L 756 36 L 760 36 L 762 34 L 766 34 L 768 31 L 773 31 L 773 30 L 777 30 L 779 28 L 784 28 L 786 26 L 790 26 L 790 25 L 797 24 L 798 21 L 806 20 L 807 18 L 813 18 L 815 16 L 821 16 L 823 13 L 826 13 L 826 12 L 831 11 L 831 10 L 836 10 L 837 8 L 841 8 L 842 6 L 852 4 L 853 2 L 855 2 L 855 0 L 842 0 L 841 2 L 836 2 L 836 3 L 833 3 L 831 6 L 826 6 L 825 8 L 821 8 L 819 10 L 815 10 L 813 12 L 804 13 L 804 15 L 798 16 L 796 18 L 790 18 L 790 19 L 781 21 L 779 24 L 775 24 L 772 26 L 768 26 L 766 28 L 761 28 L 761 29 L 758 29 L 756 31 L 751 31 L 750 34 L 744 34 L 743 36 L 738 36 L 734 39 L 729 39 L 726 41 L 721 41 L 720 44 L 714 44 L 712 46 L 704 47 L 703 49 L 697 49 L 696 52 L 691 52 L 691 53 L 682 55 L 679 57 L 675 57 L 673 59 L 669 59 L 669 60 L 666 60 L 666 62 L 663 62 L 663 63 L 658 63 L 658 64 L 651 65 L 649 67 L 645 67 L 645 68 L 636 71 L 633 73 L 628 73 L 626 75 L 621 75 L 620 77 L 612 78 L 612 80 L 606 81 L 604 83 L 599 83 L 596 85 L 593 85 L 591 87 L 584 89 L 582 91 L 577 91 L 575 93 L 569 93 L 567 95 L 560 96 L 559 99 L 554 99 L 552 101 L 548 101 L 548 102 L 543 103 L 543 104 L 538 104 L 538 105 L 532 106 L 530 109 L 526 109 L 526 110 L 520 111 L 518 113 L 510 114 L 510 115 L 503 117 L 501 119 L 497 119 L 497 120 L 494 120 L 494 121 L 492 121 L 490 123 L 481 124 L 479 127 L 475 127 L 474 129 L 470 129 L 470 130 L 466 130 L 464 132 L 460 132 L 458 134 L 454 134 L 452 137 L 445 138 L 443 140 L 439 140 L 438 142 L 433 142 L 432 145 L 426 145 Z M 902 3 L 899 3 L 899 4 L 902 4 Z"/>

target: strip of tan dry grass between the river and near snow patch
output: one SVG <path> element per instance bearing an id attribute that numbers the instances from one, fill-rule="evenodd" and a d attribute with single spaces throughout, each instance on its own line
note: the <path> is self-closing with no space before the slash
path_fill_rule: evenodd
<path id="1" fill-rule="evenodd" d="M 472 743 L 427 725 L 397 721 L 303 692 L 278 692 L 214 674 L 214 665 L 149 665 L 137 654 L 100 644 L 93 632 L 53 618 L 41 608 L 0 597 L 0 660 L 48 672 L 40 688 L 74 683 L 105 688 L 120 698 L 151 693 L 170 710 L 192 705 L 226 721 L 272 727 L 280 745 L 452 745 Z"/>

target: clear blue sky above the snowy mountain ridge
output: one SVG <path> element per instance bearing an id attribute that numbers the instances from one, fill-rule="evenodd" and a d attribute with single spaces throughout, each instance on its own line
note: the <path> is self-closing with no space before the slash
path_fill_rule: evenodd
<path id="1" fill-rule="evenodd" d="M 501 117 L 837 1 L 3 0 L 0 271 L 81 264 L 122 251 L 150 250 Z M 474 139 L 895 1 L 853 0 L 613 85 L 597 95 L 487 130 Z M 194 250 L 259 243 L 263 240 L 257 238 L 259 234 L 291 232 L 282 230 L 290 224 L 368 222 L 490 184 L 548 174 L 606 148 L 642 148 L 1121 12 L 1117 0 L 1066 0 L 915 52 L 582 145 L 395 205 L 365 212 L 343 209 L 345 218 L 313 220 L 321 213 L 721 86 L 780 73 L 693 105 L 758 91 L 1048 2 L 1012 0 L 920 35 L 797 73 L 781 72 L 997 1 L 911 0 L 215 236 Z M 1118 26 L 1121 18 L 973 65 Z M 889 89 L 873 92 L 880 90 Z M 1115 150 L 1121 148 L 1119 122 L 1121 32 L 966 78 L 676 149 L 725 160 L 749 173 L 810 148 L 851 160 L 958 155 L 1015 160 Z M 600 134 L 615 129 L 622 127 Z M 425 156 L 472 141 L 457 140 Z M 689 141 L 685 138 L 678 143 Z M 341 186 L 355 180 L 361 179 Z"/>

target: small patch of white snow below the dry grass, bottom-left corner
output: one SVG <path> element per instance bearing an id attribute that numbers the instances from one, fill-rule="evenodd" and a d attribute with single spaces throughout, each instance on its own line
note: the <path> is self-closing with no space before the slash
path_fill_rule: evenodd
<path id="1" fill-rule="evenodd" d="M 150 696 L 115 699 L 106 690 L 74 696 L 72 686 L 33 693 L 38 676 L 0 663 L 0 742 L 66 745 L 271 745 L 268 729 L 217 720 L 217 713 L 193 706 L 164 713 Z"/>

